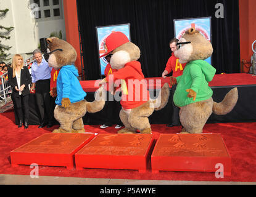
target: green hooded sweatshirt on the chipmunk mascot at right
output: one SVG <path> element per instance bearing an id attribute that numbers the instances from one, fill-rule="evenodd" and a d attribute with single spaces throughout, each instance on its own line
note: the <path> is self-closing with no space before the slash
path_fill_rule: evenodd
<path id="1" fill-rule="evenodd" d="M 212 81 L 216 69 L 204 60 L 194 60 L 189 62 L 181 76 L 178 76 L 178 85 L 173 96 L 173 102 L 178 107 L 183 107 L 201 100 L 207 100 L 212 97 L 212 89 L 208 82 Z M 196 92 L 196 100 L 188 97 L 186 89 L 192 89 Z"/>

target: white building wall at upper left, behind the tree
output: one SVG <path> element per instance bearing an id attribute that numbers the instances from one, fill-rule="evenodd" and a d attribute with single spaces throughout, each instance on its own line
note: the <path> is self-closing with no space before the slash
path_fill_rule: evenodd
<path id="1" fill-rule="evenodd" d="M 11 54 L 10 58 L 14 54 L 21 54 L 23 58 L 30 57 L 31 52 L 38 48 L 39 38 L 49 38 L 52 31 L 59 32 L 61 30 L 63 39 L 65 39 L 65 20 L 62 4 L 61 17 L 57 20 L 53 18 L 47 20 L 41 18 L 38 20 L 31 17 L 30 2 L 30 0 L 0 1 L 0 9 L 9 9 L 6 17 L 0 20 L 1 25 L 14 26 L 14 30 L 10 33 L 10 40 L 5 41 L 4 39 L 1 42 L 12 46 L 7 52 Z"/>

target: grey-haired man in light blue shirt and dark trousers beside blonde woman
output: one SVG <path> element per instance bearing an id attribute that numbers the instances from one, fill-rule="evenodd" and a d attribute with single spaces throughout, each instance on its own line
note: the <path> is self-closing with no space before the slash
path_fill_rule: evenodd
<path id="1" fill-rule="evenodd" d="M 40 125 L 42 128 L 47 125 L 47 128 L 53 126 L 54 116 L 52 108 L 52 100 L 50 97 L 50 80 L 52 68 L 41 55 L 41 50 L 33 51 L 36 61 L 31 66 L 32 86 L 35 89 L 36 103 L 39 108 Z"/>

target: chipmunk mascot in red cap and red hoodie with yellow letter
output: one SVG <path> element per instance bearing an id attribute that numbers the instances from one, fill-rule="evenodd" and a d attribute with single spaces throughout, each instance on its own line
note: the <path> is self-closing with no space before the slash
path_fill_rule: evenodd
<path id="1" fill-rule="evenodd" d="M 155 100 L 149 98 L 147 82 L 141 70 L 139 47 L 130 42 L 122 32 L 111 33 L 105 40 L 107 52 L 111 54 L 110 65 L 117 69 L 114 73 L 102 79 L 99 84 L 113 84 L 121 79 L 122 98 L 120 119 L 125 128 L 119 134 L 134 134 L 138 130 L 141 134 L 151 134 L 151 124 L 148 117 L 154 110 L 161 110 L 168 102 L 170 94 L 168 83 L 165 83 Z M 112 81 L 111 81 L 111 80 Z"/>

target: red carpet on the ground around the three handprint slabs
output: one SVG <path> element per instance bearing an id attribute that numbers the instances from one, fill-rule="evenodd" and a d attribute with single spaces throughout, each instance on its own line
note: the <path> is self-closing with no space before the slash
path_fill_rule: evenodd
<path id="1" fill-rule="evenodd" d="M 58 126 L 50 129 L 38 129 L 38 126 L 30 126 L 27 130 L 14 124 L 14 112 L 0 113 L 0 174 L 30 175 L 30 166 L 10 167 L 10 151 L 20 147 L 24 143 L 35 139 L 39 135 L 51 132 Z M 85 126 L 86 132 L 116 133 L 117 129 L 109 127 L 100 129 L 99 126 Z M 181 127 L 166 127 L 165 124 L 153 124 L 154 138 L 160 134 L 174 134 L 180 132 Z M 215 178 L 211 172 L 166 172 L 152 174 L 140 174 L 133 170 L 112 169 L 76 169 L 67 170 L 65 167 L 40 166 L 39 175 L 59 177 L 86 177 L 86 178 L 110 178 L 110 179 L 141 179 L 141 180 L 193 180 L 193 181 L 233 181 L 256 182 L 256 123 L 226 123 L 206 124 L 205 133 L 220 133 L 228 147 L 232 158 L 232 175 L 223 179 Z"/>

